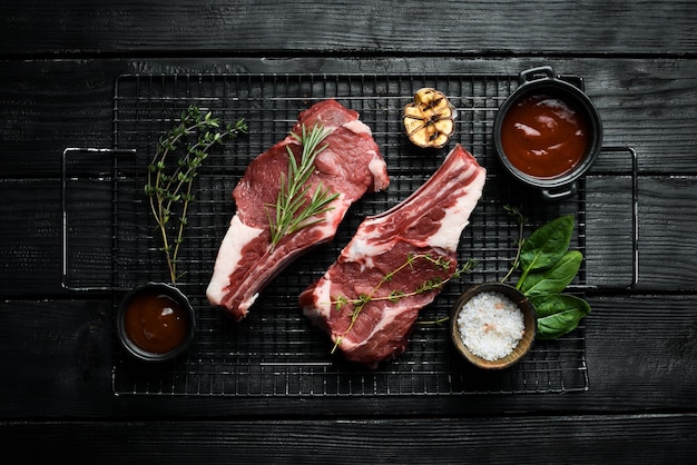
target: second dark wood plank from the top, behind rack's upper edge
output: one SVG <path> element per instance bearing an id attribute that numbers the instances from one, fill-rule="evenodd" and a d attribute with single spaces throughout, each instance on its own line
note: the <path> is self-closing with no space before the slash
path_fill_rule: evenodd
<path id="1" fill-rule="evenodd" d="M 112 147 L 114 85 L 125 72 L 517 75 L 540 65 L 586 79 L 603 119 L 605 145 L 635 147 L 642 172 L 695 172 L 697 60 L 247 58 L 0 62 L 0 177 L 58 177 L 66 147 Z"/>

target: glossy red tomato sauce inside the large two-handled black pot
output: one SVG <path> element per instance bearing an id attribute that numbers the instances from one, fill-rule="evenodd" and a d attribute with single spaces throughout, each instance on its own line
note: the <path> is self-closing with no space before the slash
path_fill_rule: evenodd
<path id="1" fill-rule="evenodd" d="M 536 95 L 513 105 L 501 125 L 510 162 L 537 178 L 554 178 L 579 165 L 589 146 L 588 121 L 569 103 Z"/>

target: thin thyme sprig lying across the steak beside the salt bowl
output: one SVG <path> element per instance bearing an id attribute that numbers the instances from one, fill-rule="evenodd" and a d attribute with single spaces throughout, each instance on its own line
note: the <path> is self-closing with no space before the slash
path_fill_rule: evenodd
<path id="1" fill-rule="evenodd" d="M 353 305 L 354 306 L 353 310 L 351 311 L 351 323 L 348 324 L 348 327 L 346 328 L 344 334 L 341 337 L 336 338 L 336 340 L 334 343 L 334 347 L 332 347 L 332 354 L 334 354 L 334 352 L 336 352 L 336 348 L 341 345 L 343 338 L 346 337 L 346 335 L 348 333 L 351 333 L 355 321 L 359 319 L 359 315 L 361 315 L 361 311 L 363 311 L 365 306 L 367 304 L 370 304 L 371 301 L 389 300 L 391 303 L 397 303 L 397 301 L 400 301 L 403 298 L 413 297 L 413 296 L 416 296 L 416 295 L 420 295 L 420 294 L 428 293 L 430 290 L 441 289 L 443 286 L 445 286 L 451 280 L 459 279 L 464 274 L 471 273 L 472 269 L 474 268 L 474 260 L 470 259 L 470 260 L 465 261 L 462 266 L 458 267 L 449 278 L 443 279 L 443 278 L 436 276 L 436 277 L 433 277 L 431 279 L 426 279 L 425 281 L 421 283 L 412 291 L 405 293 L 405 291 L 403 291 L 401 289 L 392 289 L 390 291 L 390 294 L 387 294 L 385 296 L 382 296 L 382 297 L 376 297 L 375 296 L 377 290 L 383 285 L 385 285 L 386 283 L 390 283 L 397 273 L 400 273 L 404 268 L 413 268 L 414 263 L 416 260 L 425 260 L 425 261 L 432 264 L 435 269 L 439 269 L 439 270 L 442 270 L 442 271 L 448 271 L 450 269 L 450 266 L 451 266 L 450 259 L 448 259 L 445 257 L 433 258 L 433 256 L 431 256 L 431 254 L 410 253 L 406 256 L 406 259 L 404 260 L 404 263 L 402 265 L 400 265 L 399 267 L 396 267 L 395 269 L 393 269 L 392 271 L 390 271 L 386 275 L 384 275 L 380 279 L 380 281 L 375 285 L 375 287 L 373 289 L 371 289 L 371 291 L 369 294 L 361 294 L 356 298 L 347 298 L 346 296 L 338 296 L 338 297 L 335 298 L 335 300 L 332 301 L 332 305 L 334 306 L 334 308 L 336 310 L 340 310 L 345 305 Z"/>

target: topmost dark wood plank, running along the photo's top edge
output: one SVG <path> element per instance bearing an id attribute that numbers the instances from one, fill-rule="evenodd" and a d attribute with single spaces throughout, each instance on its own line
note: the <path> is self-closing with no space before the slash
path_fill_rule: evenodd
<path id="1" fill-rule="evenodd" d="M 689 55 L 691 1 L 4 2 L 3 56 Z"/>

